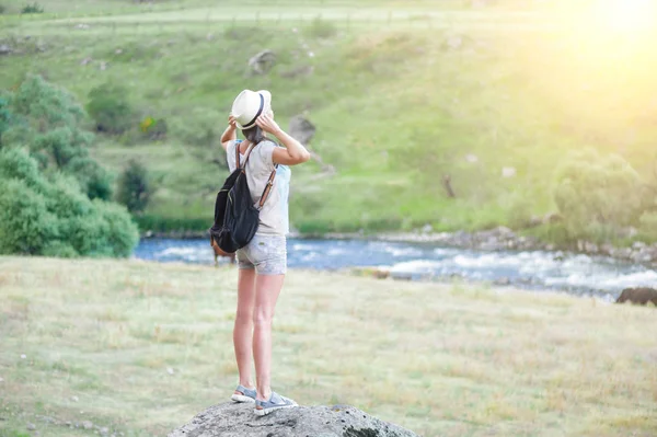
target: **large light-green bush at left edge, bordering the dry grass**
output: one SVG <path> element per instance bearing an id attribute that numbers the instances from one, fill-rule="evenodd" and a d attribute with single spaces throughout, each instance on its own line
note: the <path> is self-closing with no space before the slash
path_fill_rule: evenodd
<path id="1" fill-rule="evenodd" d="M 0 151 L 0 254 L 128 256 L 138 241 L 124 207 L 91 200 L 65 173 L 46 176 L 25 150 Z"/>

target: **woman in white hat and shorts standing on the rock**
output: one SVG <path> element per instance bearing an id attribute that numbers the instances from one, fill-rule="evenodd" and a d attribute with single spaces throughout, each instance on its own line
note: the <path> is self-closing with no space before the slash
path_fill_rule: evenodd
<path id="1" fill-rule="evenodd" d="M 287 272 L 289 166 L 308 161 L 310 153 L 274 120 L 268 91 L 242 91 L 233 102 L 228 120 L 229 126 L 221 136 L 228 166 L 233 172 L 238 159 L 245 165 L 254 204 L 261 200 L 269 176 L 276 172 L 274 185 L 260 212 L 257 232 L 237 252 L 240 273 L 233 344 L 240 383 L 232 400 L 255 402 L 254 412 L 262 416 L 297 405 L 270 389 L 272 320 Z M 237 139 L 238 128 L 244 141 Z M 265 134 L 273 135 L 285 147 L 277 146 Z M 251 375 L 252 357 L 257 387 L 253 386 Z"/>

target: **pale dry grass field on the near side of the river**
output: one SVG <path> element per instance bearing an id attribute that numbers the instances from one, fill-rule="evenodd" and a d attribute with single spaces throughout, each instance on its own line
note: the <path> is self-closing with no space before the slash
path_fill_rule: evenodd
<path id="1" fill-rule="evenodd" d="M 161 436 L 223 402 L 235 284 L 228 267 L 0 258 L 0 430 L 93 434 L 48 416 Z M 652 308 L 291 272 L 275 331 L 274 388 L 303 404 L 425 436 L 657 435 Z"/>

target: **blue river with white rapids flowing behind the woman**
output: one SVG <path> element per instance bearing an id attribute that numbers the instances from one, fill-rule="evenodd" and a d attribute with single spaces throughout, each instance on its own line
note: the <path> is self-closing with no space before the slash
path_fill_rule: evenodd
<path id="1" fill-rule="evenodd" d="M 146 239 L 135 257 L 214 264 L 208 240 Z M 227 260 L 221 260 L 227 262 Z M 288 240 L 288 266 L 321 271 L 381 267 L 393 278 L 465 280 L 561 290 L 612 301 L 623 288 L 657 286 L 657 271 L 603 256 L 544 251 L 486 252 L 371 240 Z"/>

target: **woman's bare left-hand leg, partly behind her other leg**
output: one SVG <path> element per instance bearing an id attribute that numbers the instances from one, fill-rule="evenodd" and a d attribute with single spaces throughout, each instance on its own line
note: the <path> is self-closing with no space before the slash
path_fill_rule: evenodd
<path id="1" fill-rule="evenodd" d="M 238 313 L 235 314 L 235 324 L 233 329 L 233 346 L 235 348 L 235 359 L 240 372 L 240 384 L 247 389 L 253 388 L 251 378 L 251 344 L 253 342 L 254 304 L 255 269 L 241 268 L 238 279 Z"/>

